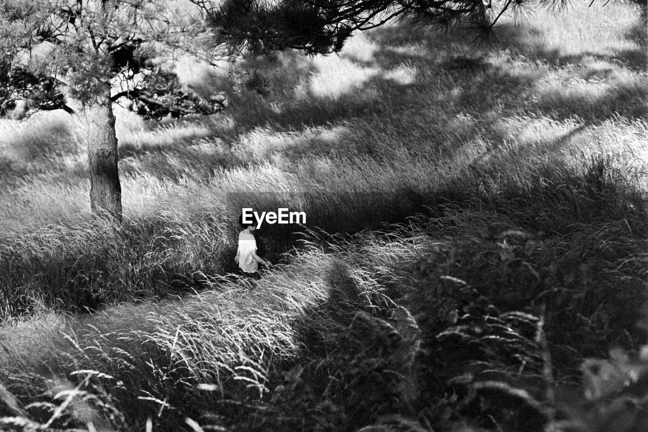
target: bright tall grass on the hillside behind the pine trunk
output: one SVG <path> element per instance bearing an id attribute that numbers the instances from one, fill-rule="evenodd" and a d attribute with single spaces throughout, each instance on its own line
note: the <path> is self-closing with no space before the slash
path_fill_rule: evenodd
<path id="1" fill-rule="evenodd" d="M 603 10 L 614 16 L 636 14 L 631 6 L 621 4 Z M 548 46 L 572 49 L 566 42 L 572 39 L 566 34 L 580 25 L 575 17 L 583 11 L 538 14 L 533 25 L 520 27 L 520 31 L 542 23 L 535 30 L 538 41 L 544 38 Z M 609 28 L 608 14 L 588 14 L 594 20 L 592 27 Z M 571 27 L 562 23 L 566 19 L 573 20 Z M 368 169 L 374 160 L 398 159 L 407 166 L 410 155 L 415 156 L 410 159 L 445 170 L 446 160 L 437 160 L 444 153 L 470 163 L 477 152 L 500 145 L 503 139 L 516 141 L 516 136 L 498 132 L 502 130 L 500 122 L 537 122 L 535 127 L 546 130 L 538 143 L 572 125 L 595 125 L 585 131 L 588 135 L 606 133 L 605 126 L 616 126 L 616 116 L 622 123 L 628 118 L 631 122 L 639 119 L 641 125 L 647 102 L 645 71 L 613 60 L 625 51 L 641 53 L 642 46 L 624 34 L 631 30 L 631 20 L 615 28 L 619 31 L 606 34 L 607 42 L 599 47 L 599 54 L 583 46 L 583 58 L 554 66 L 546 53 L 527 59 L 529 54 L 523 50 L 529 49 L 528 44 L 520 42 L 518 34 L 512 41 L 513 36 L 505 40 L 509 51 L 480 51 L 458 37 L 435 35 L 430 42 L 432 38 L 423 32 L 387 27 L 370 36 L 357 36 L 339 58 L 310 60 L 284 53 L 273 62 L 255 64 L 270 80 L 270 96 L 264 99 L 253 91 L 231 95 L 227 118 L 154 126 L 121 113 L 126 215 L 153 214 L 166 206 L 168 197 L 191 190 L 205 178 L 229 191 L 230 186 L 225 185 L 230 169 L 245 176 L 246 183 L 272 190 L 272 176 L 265 179 L 264 171 L 246 171 L 266 162 L 288 177 L 302 165 L 308 169 L 310 163 L 318 163 L 312 160 L 321 156 L 329 157 L 341 170 L 353 169 L 364 156 L 368 156 Z M 511 52 L 513 42 L 519 42 L 514 46 L 520 47 Z M 590 51 L 593 60 L 588 60 Z M 355 67 L 362 72 L 351 73 Z M 321 93 L 319 87 L 335 96 Z M 39 129 L 36 120 L 32 123 L 34 127 L 25 130 Z M 56 117 L 52 125 L 65 128 L 66 121 Z M 70 147 L 67 136 L 59 139 L 54 135 L 49 147 L 67 149 L 57 156 L 59 150 L 52 153 L 38 140 L 29 144 L 25 140 L 30 138 L 19 138 L 12 127 L 6 126 L 3 136 L 13 140 L 12 149 L 21 150 L 3 153 L 7 168 L 3 179 L 11 182 L 2 199 L 3 232 L 60 220 L 87 220 L 83 150 Z M 640 138 L 641 126 L 637 133 Z M 38 139 L 43 136 L 48 134 L 40 134 Z M 407 176 L 406 170 L 402 172 Z M 428 182 L 429 177 L 419 181 Z M 23 183 L 16 184 L 17 178 Z M 381 182 L 373 185 L 372 181 L 361 183 L 369 189 L 384 189 Z M 299 180 L 295 183 L 290 187 L 311 186 L 303 186 Z M 388 187 L 400 186 L 407 185 L 401 181 Z M 163 204 L 158 205 L 160 202 Z"/>

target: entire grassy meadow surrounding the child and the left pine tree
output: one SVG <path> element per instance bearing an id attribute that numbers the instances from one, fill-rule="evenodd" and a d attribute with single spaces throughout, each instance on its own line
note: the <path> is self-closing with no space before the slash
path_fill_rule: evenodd
<path id="1" fill-rule="evenodd" d="M 115 108 L 119 228 L 91 220 L 71 117 L 0 120 L 0 424 L 647 430 L 645 19 L 574 3 L 479 46 L 393 23 L 180 62 L 228 107 Z M 233 276 L 237 211 L 286 201 L 307 226 L 262 227 L 275 267 Z"/>

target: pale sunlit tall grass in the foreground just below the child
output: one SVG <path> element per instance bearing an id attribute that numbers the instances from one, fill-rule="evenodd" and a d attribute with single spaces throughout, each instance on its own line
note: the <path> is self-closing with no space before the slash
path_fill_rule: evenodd
<path id="1" fill-rule="evenodd" d="M 21 322 L 3 333 L 3 347 L 10 353 L 3 357 L 3 368 L 17 374 L 16 379 L 19 370 L 47 371 L 54 376 L 86 370 L 93 385 L 102 382 L 112 389 L 122 412 L 128 411 L 129 404 L 135 409 L 128 413 L 132 418 L 161 413 L 165 404 L 177 407 L 187 397 L 202 401 L 205 407 L 211 398 L 209 392 L 196 388 L 198 384 L 205 384 L 208 390 L 213 387 L 219 398 L 232 402 L 246 395 L 258 397 L 270 391 L 270 379 L 278 374 L 277 368 L 300 353 L 297 330 L 299 322 L 308 319 L 307 311 L 332 296 L 355 298 L 345 289 L 347 285 L 334 282 L 343 259 L 310 248 L 289 267 L 260 281 L 253 291 L 246 284 L 230 282 L 219 285 L 218 291 L 182 302 L 113 307 L 91 320 L 60 317 Z M 375 285 L 358 293 L 365 289 L 354 302 L 366 307 L 384 302 Z M 47 327 L 34 331 L 39 325 Z M 85 347 L 90 341 L 93 348 L 88 350 Z M 56 350 L 31 355 L 36 345 Z M 110 365 L 104 363 L 106 359 Z M 101 370 L 103 375 L 91 370 Z M 30 382 L 21 387 L 25 383 L 9 381 L 21 392 L 37 385 Z M 135 388 L 138 390 L 133 392 Z M 37 405 L 32 412 L 40 413 L 40 409 Z M 168 411 L 172 412 L 165 413 L 160 422 L 177 416 L 173 409 Z"/>

